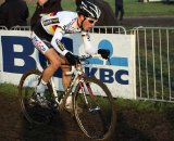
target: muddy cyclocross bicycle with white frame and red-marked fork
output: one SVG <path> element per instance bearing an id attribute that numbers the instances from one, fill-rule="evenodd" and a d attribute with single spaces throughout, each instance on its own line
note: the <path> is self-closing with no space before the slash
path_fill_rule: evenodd
<path id="1" fill-rule="evenodd" d="M 74 75 L 63 95 L 59 95 L 53 78 L 51 78 L 45 94 L 49 101 L 49 108 L 41 107 L 35 98 L 35 88 L 41 79 L 41 72 L 30 69 L 22 76 L 18 85 L 20 103 L 29 123 L 50 121 L 52 112 L 64 110 L 65 101 L 72 93 L 73 113 L 82 131 L 95 140 L 103 141 L 111 138 L 116 121 L 114 101 L 110 90 L 102 81 L 85 75 L 84 67 L 90 57 L 94 56 L 78 56 L 80 63 L 66 73 L 66 75 Z M 63 102 L 60 104 L 61 100 Z"/>

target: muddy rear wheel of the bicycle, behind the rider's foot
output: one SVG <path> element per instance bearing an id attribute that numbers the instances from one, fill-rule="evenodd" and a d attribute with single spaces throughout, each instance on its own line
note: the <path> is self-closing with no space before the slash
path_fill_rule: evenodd
<path id="1" fill-rule="evenodd" d="M 49 123 L 52 114 L 49 108 L 42 108 L 35 102 L 35 87 L 40 80 L 40 76 L 41 72 L 30 69 L 22 76 L 18 85 L 20 104 L 25 118 L 32 124 L 39 125 Z M 47 92 L 51 95 L 52 88 L 50 84 L 48 84 L 47 87 Z"/>

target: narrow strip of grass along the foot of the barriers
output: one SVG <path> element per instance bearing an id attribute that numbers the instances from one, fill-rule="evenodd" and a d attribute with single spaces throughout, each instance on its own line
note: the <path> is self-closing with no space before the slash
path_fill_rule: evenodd
<path id="1" fill-rule="evenodd" d="M 17 87 L 12 84 L 0 84 L 0 94 L 16 97 Z M 135 110 L 137 112 L 164 113 L 165 111 L 174 110 L 174 104 L 172 103 L 126 100 L 121 98 L 115 99 L 115 104 L 119 110 Z"/>

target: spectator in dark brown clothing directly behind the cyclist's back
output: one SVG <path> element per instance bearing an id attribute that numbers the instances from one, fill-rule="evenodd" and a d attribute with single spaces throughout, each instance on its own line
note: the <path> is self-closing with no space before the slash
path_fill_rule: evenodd
<path id="1" fill-rule="evenodd" d="M 62 11 L 61 0 L 37 0 L 35 13 L 30 18 L 32 28 L 36 25 L 40 14 Z"/>

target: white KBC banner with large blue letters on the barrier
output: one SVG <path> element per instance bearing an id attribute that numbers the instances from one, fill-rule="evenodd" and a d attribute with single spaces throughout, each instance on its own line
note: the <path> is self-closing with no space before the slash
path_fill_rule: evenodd
<path id="1" fill-rule="evenodd" d="M 20 36 L 18 36 L 20 35 Z M 22 74 L 29 68 L 40 69 L 44 66 L 42 59 L 30 41 L 30 31 L 2 30 L 0 33 L 0 82 L 7 81 L 18 85 Z M 136 99 L 135 84 L 135 36 L 134 35 L 107 35 L 91 34 L 91 44 L 110 50 L 110 60 L 102 68 L 103 63 L 99 59 L 90 59 L 90 67 L 85 68 L 89 76 L 96 76 L 110 89 L 113 97 Z M 79 34 L 67 35 L 63 43 L 75 54 L 85 54 L 83 40 Z M 57 88 L 61 86 L 61 73 L 55 73 Z M 9 75 L 9 78 L 4 76 Z M 61 87 L 60 87 L 61 86 Z"/>

